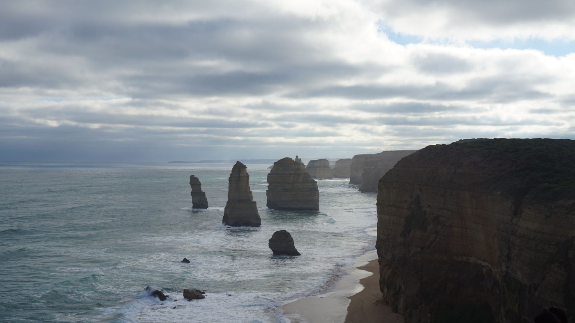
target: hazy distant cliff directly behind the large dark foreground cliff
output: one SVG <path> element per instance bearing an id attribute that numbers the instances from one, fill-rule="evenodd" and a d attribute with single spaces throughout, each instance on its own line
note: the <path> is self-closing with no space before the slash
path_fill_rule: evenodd
<path id="1" fill-rule="evenodd" d="M 377 192 L 379 179 L 392 169 L 397 161 L 414 152 L 416 151 L 396 150 L 364 155 L 361 174 L 362 182 L 359 184 L 358 190 L 361 192 Z"/>

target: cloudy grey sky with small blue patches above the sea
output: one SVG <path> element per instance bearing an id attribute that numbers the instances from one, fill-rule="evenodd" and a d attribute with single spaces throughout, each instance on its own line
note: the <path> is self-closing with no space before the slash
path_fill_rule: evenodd
<path id="1" fill-rule="evenodd" d="M 0 161 L 575 139 L 571 0 L 0 2 Z"/>

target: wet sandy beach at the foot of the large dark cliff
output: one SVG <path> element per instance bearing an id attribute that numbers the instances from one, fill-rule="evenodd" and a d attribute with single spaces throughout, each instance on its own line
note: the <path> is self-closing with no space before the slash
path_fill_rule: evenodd
<path id="1" fill-rule="evenodd" d="M 382 302 L 379 291 L 377 252 L 355 258 L 355 264 L 342 267 L 346 276 L 325 294 L 296 299 L 279 306 L 286 323 L 403 323 Z"/>

